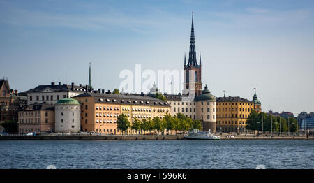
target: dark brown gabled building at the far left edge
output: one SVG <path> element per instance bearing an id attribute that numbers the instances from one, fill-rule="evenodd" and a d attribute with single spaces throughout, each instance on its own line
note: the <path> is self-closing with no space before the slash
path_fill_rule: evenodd
<path id="1" fill-rule="evenodd" d="M 0 124 L 18 120 L 18 111 L 26 105 L 26 96 L 10 89 L 8 80 L 0 80 Z"/>

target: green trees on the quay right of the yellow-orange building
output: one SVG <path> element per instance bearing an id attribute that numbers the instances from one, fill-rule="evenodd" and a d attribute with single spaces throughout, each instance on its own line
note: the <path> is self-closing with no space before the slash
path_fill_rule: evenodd
<path id="1" fill-rule="evenodd" d="M 257 131 L 281 131 L 281 132 L 297 132 L 298 123 L 294 117 L 274 117 L 267 115 L 265 112 L 256 112 L 253 110 L 246 120 L 246 129 Z"/>

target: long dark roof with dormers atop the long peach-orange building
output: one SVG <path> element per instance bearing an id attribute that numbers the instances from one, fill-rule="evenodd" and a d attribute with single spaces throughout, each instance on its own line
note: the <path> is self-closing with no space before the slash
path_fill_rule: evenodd
<path id="1" fill-rule="evenodd" d="M 92 96 L 95 103 L 117 103 L 117 104 L 139 104 L 139 105 L 158 105 L 170 106 L 166 101 L 159 100 L 150 96 L 130 95 L 130 94 L 102 94 L 86 92 L 74 96 L 73 98 Z"/>

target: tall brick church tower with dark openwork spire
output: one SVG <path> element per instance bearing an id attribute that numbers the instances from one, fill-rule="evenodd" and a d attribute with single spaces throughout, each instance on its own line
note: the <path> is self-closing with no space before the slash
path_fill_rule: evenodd
<path id="1" fill-rule="evenodd" d="M 184 55 L 184 94 L 195 93 L 199 96 L 202 90 L 202 64 L 197 64 L 194 36 L 194 22 L 192 12 L 192 27 L 190 31 L 190 50 L 188 53 L 188 64 L 186 64 L 186 55 Z"/>

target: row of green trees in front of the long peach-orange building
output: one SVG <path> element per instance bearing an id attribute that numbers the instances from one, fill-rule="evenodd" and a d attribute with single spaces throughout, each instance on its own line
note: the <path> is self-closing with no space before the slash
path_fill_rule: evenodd
<path id="1" fill-rule="evenodd" d="M 131 123 L 126 115 L 120 115 L 117 119 L 117 128 L 121 131 L 128 131 L 133 129 L 137 131 L 143 131 L 143 133 L 152 131 L 154 133 L 160 133 L 167 129 L 168 131 L 188 131 L 190 129 L 202 129 L 202 122 L 200 120 L 193 120 L 189 117 L 185 117 L 183 114 L 178 113 L 177 115 L 165 115 L 162 119 L 154 117 L 153 119 L 143 119 L 140 121 L 135 118 L 134 122 Z"/>

